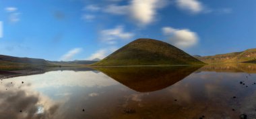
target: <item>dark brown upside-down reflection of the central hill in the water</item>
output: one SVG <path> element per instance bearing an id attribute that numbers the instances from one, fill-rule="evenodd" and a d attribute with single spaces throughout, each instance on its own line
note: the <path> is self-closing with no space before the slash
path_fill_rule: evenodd
<path id="1" fill-rule="evenodd" d="M 153 92 L 162 90 L 201 66 L 170 66 L 170 67 L 98 67 L 107 76 L 137 92 Z"/>

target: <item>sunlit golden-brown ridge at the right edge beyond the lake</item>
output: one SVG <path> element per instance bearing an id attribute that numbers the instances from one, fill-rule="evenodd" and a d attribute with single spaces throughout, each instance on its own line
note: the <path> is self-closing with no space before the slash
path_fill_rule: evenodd
<path id="1" fill-rule="evenodd" d="M 223 63 L 238 63 L 238 62 L 247 62 L 247 63 L 255 63 L 256 61 L 256 48 L 255 49 L 247 49 L 241 52 L 232 52 L 232 53 L 224 53 L 218 55 L 210 55 L 210 56 L 195 56 L 201 62 L 205 62 L 207 64 L 223 64 Z"/>

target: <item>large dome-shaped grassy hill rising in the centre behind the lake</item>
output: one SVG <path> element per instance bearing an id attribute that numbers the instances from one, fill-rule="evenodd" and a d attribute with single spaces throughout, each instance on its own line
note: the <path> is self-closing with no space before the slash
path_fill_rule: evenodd
<path id="1" fill-rule="evenodd" d="M 203 64 L 181 49 L 163 41 L 137 39 L 92 66 Z"/>

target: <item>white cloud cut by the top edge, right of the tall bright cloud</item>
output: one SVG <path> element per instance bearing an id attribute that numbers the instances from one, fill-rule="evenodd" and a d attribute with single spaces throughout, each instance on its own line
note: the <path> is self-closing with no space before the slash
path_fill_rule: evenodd
<path id="1" fill-rule="evenodd" d="M 203 4 L 198 0 L 177 0 L 180 9 L 189 11 L 190 13 L 199 13 L 203 11 Z"/>

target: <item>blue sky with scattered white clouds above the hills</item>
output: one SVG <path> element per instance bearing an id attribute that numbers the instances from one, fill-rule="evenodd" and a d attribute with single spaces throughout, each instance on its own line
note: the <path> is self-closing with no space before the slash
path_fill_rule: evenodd
<path id="1" fill-rule="evenodd" d="M 0 54 L 103 58 L 139 37 L 191 55 L 256 48 L 254 0 L 0 0 Z"/>

